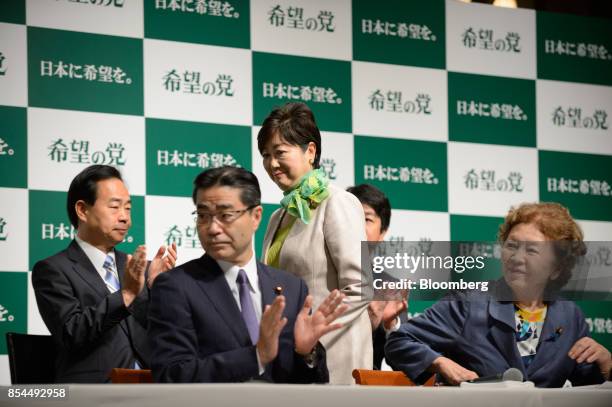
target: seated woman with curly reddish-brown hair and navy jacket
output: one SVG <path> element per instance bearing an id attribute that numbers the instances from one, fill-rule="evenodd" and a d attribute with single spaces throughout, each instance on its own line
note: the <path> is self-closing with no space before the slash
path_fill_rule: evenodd
<path id="1" fill-rule="evenodd" d="M 558 203 L 511 208 L 499 228 L 503 278 L 487 292 L 455 291 L 389 335 L 392 366 L 417 383 L 450 384 L 509 368 L 538 387 L 601 383 L 610 352 L 589 337 L 584 315 L 559 290 L 586 253 L 583 234 Z"/>

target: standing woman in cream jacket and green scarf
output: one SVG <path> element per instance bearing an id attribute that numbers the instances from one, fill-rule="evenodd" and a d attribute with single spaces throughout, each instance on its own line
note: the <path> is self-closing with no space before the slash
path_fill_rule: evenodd
<path id="1" fill-rule="evenodd" d="M 303 278 L 315 304 L 333 290 L 346 295 L 343 328 L 321 342 L 330 383 L 352 384 L 353 369 L 372 368 L 369 301 L 362 297 L 363 209 L 320 168 L 321 133 L 305 104 L 274 109 L 259 130 L 257 146 L 266 172 L 284 194 L 282 208 L 270 217 L 262 259 Z"/>

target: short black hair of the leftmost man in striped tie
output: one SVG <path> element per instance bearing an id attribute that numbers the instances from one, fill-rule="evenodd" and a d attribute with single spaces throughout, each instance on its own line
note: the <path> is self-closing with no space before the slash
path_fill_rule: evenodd
<path id="1" fill-rule="evenodd" d="M 90 165 L 74 177 L 66 199 L 66 210 L 72 226 L 79 227 L 79 217 L 74 209 L 76 203 L 84 201 L 87 205 L 94 205 L 98 198 L 98 182 L 111 178 L 123 181 L 119 170 L 110 165 Z"/>

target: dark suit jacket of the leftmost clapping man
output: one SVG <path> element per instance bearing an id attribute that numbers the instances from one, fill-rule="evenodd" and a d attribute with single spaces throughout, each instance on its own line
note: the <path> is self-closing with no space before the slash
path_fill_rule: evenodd
<path id="1" fill-rule="evenodd" d="M 115 250 L 122 278 L 126 255 Z M 148 289 L 125 307 L 76 241 L 32 270 L 38 310 L 57 347 L 56 382 L 109 382 L 114 367 L 148 367 Z"/>

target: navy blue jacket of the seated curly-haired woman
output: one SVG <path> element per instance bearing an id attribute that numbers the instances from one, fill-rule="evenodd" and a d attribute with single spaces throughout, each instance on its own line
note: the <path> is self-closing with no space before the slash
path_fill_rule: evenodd
<path id="1" fill-rule="evenodd" d="M 578 339 L 589 336 L 584 315 L 576 304 L 563 300 L 548 303 L 536 356 L 525 369 L 516 346 L 514 304 L 498 301 L 495 295 L 496 288 L 509 288 L 503 280 L 492 288 L 485 293 L 453 292 L 402 324 L 385 346 L 392 366 L 418 383 L 431 376 L 426 369 L 439 356 L 479 376 L 514 367 L 538 387 L 561 387 L 566 379 L 574 386 L 604 381 L 596 364 L 577 364 L 567 356 Z"/>

